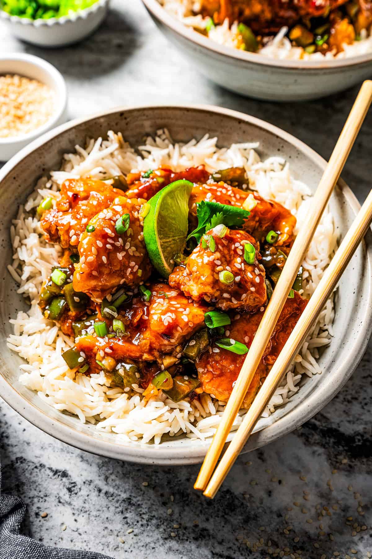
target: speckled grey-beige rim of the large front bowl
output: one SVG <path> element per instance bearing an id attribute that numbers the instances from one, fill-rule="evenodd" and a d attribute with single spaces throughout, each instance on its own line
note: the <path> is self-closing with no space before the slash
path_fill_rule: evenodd
<path id="1" fill-rule="evenodd" d="M 178 109 L 183 111 L 209 111 L 215 113 L 216 115 L 225 115 L 233 117 L 236 120 L 243 120 L 249 124 L 257 126 L 259 129 L 264 129 L 270 134 L 276 136 L 278 139 L 282 139 L 295 148 L 302 151 L 307 158 L 311 159 L 318 167 L 324 169 L 326 167 L 326 161 L 320 155 L 316 153 L 312 148 L 307 146 L 301 140 L 298 140 L 293 135 L 280 129 L 277 126 L 265 122 L 257 117 L 246 115 L 244 113 L 234 111 L 231 109 L 226 109 L 223 107 L 216 107 L 211 105 L 143 105 L 143 106 L 132 106 L 132 107 L 115 107 L 107 111 L 95 113 L 94 115 L 84 117 L 82 119 L 75 119 L 66 124 L 60 125 L 54 130 L 51 130 L 37 138 L 31 144 L 27 145 L 16 155 L 13 156 L 11 160 L 0 169 L 0 184 L 4 177 L 11 172 L 12 168 L 15 167 L 21 160 L 30 155 L 31 153 L 36 153 L 38 148 L 42 145 L 47 144 L 47 142 L 63 134 L 66 130 L 79 126 L 80 124 L 87 123 L 89 121 L 94 121 L 97 119 L 103 119 L 105 116 L 112 115 L 113 113 L 130 113 L 131 111 L 141 111 L 141 110 L 152 110 L 152 109 Z M 337 183 L 342 188 L 342 193 L 349 203 L 352 211 L 356 214 L 360 209 L 360 204 L 357 201 L 354 193 L 345 184 L 342 179 L 339 179 Z M 368 295 L 365 304 L 365 315 L 364 320 L 361 323 L 360 331 L 354 340 L 354 347 L 357 348 L 357 352 L 346 353 L 345 360 L 342 366 L 337 371 L 337 382 L 336 379 L 332 380 L 332 383 L 328 381 L 325 385 L 318 387 L 317 391 L 313 391 L 308 395 L 307 399 L 299 402 L 299 404 L 291 410 L 288 414 L 279 418 L 273 423 L 267 425 L 264 429 L 253 433 L 249 438 L 248 444 L 243 449 L 243 452 L 248 452 L 254 448 L 259 448 L 264 444 L 268 444 L 273 440 L 281 437 L 284 434 L 291 432 L 292 430 L 299 427 L 310 419 L 313 415 L 318 413 L 323 406 L 325 406 L 334 397 L 342 386 L 349 380 L 352 372 L 354 372 L 357 364 L 359 363 L 361 357 L 363 357 L 364 350 L 368 344 L 368 340 L 372 333 L 372 314 L 368 312 L 372 306 L 372 236 L 371 231 L 366 235 L 363 241 L 366 248 L 366 277 L 369 278 L 368 284 Z M 153 444 L 128 444 L 122 443 L 120 441 L 100 440 L 97 438 L 90 437 L 88 433 L 83 433 L 78 429 L 66 425 L 60 419 L 52 419 L 45 411 L 37 408 L 37 406 L 30 401 L 24 399 L 24 397 L 17 391 L 17 389 L 9 383 L 6 378 L 1 374 L 3 369 L 0 369 L 0 396 L 13 408 L 15 409 L 23 418 L 27 419 L 35 425 L 36 427 L 43 430 L 45 433 L 50 434 L 52 437 L 61 440 L 71 446 L 79 448 L 83 451 L 90 453 L 99 454 L 100 456 L 106 456 L 110 458 L 125 460 L 129 462 L 137 462 L 143 464 L 156 464 L 156 465 L 185 465 L 200 463 L 203 461 L 206 454 L 207 448 L 209 447 L 210 440 L 206 439 L 203 442 L 199 441 L 195 444 L 195 447 L 184 449 L 183 445 L 169 447 Z M 61 416 L 62 418 L 63 416 Z M 230 433 L 228 440 L 231 439 L 233 434 Z"/>

